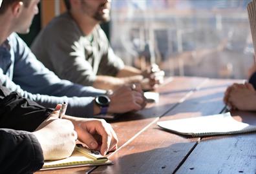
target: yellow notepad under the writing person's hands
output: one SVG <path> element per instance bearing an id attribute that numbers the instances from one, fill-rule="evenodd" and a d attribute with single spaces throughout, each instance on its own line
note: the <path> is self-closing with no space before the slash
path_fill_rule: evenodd
<path id="1" fill-rule="evenodd" d="M 99 151 L 89 150 L 81 144 L 77 144 L 70 157 L 61 160 L 45 161 L 41 170 L 70 168 L 74 166 L 100 166 L 105 164 L 112 164 L 112 162 L 107 157 L 100 155 Z"/>

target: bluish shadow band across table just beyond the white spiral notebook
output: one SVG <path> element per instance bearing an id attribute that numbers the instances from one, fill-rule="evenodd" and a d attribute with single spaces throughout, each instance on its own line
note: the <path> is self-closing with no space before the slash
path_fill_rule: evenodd
<path id="1" fill-rule="evenodd" d="M 144 108 L 144 110 L 137 111 L 136 113 L 124 113 L 118 115 L 115 120 L 109 122 L 123 122 L 123 121 L 136 121 L 142 119 L 162 117 L 171 111 L 171 115 L 177 113 L 193 113 L 200 111 L 200 115 L 213 115 L 213 113 L 220 113 L 224 109 L 222 102 L 224 94 L 222 92 L 212 93 L 201 97 L 187 99 L 182 103 L 169 103 L 160 106 L 152 106 L 151 108 Z M 198 115 L 198 116 L 200 116 Z M 167 114 L 168 116 L 168 114 Z"/>

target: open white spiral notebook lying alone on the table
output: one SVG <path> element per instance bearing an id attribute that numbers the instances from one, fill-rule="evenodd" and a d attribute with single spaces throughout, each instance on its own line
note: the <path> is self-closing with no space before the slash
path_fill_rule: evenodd
<path id="1" fill-rule="evenodd" d="M 189 119 L 160 121 L 157 124 L 165 130 L 193 137 L 256 131 L 256 126 L 236 121 L 229 112 Z"/>

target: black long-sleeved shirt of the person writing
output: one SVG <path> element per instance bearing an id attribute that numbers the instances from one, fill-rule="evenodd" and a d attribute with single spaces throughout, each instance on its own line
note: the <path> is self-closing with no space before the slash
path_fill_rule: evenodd
<path id="1" fill-rule="evenodd" d="M 0 173 L 33 173 L 43 166 L 35 131 L 52 110 L 0 86 Z"/>

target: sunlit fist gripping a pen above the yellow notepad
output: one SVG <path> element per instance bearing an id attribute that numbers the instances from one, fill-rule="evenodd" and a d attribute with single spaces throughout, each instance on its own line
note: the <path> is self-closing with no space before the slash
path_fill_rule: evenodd
<path id="1" fill-rule="evenodd" d="M 54 111 L 48 115 L 34 131 L 45 160 L 57 160 L 69 157 L 74 150 L 78 135 L 74 130 L 74 124 L 68 119 L 58 119 L 65 114 L 65 104 L 63 107 L 58 104 Z M 65 107 L 64 107 L 65 106 Z M 61 114 L 59 113 L 61 108 Z"/>

